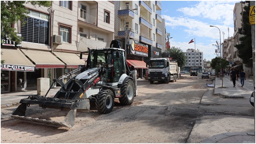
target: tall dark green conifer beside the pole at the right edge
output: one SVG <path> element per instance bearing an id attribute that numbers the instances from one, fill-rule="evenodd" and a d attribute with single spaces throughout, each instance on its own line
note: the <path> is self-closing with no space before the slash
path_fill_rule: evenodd
<path id="1" fill-rule="evenodd" d="M 245 4 L 245 2 L 243 2 Z M 250 2 L 248 6 L 243 7 L 244 11 L 240 14 L 243 17 L 242 28 L 238 28 L 239 34 L 243 34 L 243 37 L 240 37 L 240 44 L 234 45 L 238 50 L 238 57 L 243 59 L 243 63 L 247 67 L 253 67 L 252 59 L 252 34 L 251 34 L 251 25 L 249 23 L 249 11 L 250 11 Z"/>

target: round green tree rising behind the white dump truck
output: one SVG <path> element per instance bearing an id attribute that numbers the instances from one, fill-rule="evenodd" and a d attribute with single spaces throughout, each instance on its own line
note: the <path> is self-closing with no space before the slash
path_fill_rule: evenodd
<path id="1" fill-rule="evenodd" d="M 186 56 L 180 48 L 171 47 L 167 50 L 167 53 L 170 54 L 170 57 L 177 60 L 178 66 L 181 69 L 186 65 Z"/>

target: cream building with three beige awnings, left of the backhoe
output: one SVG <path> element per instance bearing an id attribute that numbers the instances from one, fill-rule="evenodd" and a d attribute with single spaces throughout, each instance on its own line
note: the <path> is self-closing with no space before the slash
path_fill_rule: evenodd
<path id="1" fill-rule="evenodd" d="M 41 77 L 52 83 L 53 78 L 85 64 L 86 55 L 79 59 L 81 51 L 109 47 L 114 40 L 113 1 L 52 1 L 51 8 L 25 6 L 30 11 L 26 25 L 20 21 L 14 24 L 23 37 L 21 45 L 12 41 L 1 44 L 1 59 L 6 61 L 1 65 L 1 92 L 36 89 Z"/>

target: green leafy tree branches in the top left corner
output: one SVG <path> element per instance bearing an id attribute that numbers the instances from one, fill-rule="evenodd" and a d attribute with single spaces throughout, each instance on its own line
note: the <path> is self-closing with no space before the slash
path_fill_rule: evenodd
<path id="1" fill-rule="evenodd" d="M 11 25 L 19 20 L 21 20 L 22 25 L 26 23 L 24 18 L 27 17 L 29 11 L 24 6 L 25 3 L 39 7 L 51 6 L 51 1 L 1 1 L 1 37 L 9 38 L 15 41 L 16 44 L 22 42 L 22 37 L 17 36 L 16 29 L 11 27 Z"/>

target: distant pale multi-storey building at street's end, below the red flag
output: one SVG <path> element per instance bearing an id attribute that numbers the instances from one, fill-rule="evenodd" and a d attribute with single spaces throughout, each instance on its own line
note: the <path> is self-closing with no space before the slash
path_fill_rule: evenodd
<path id="1" fill-rule="evenodd" d="M 196 67 L 199 72 L 202 72 L 203 69 L 203 52 L 200 52 L 198 49 L 193 48 L 187 49 L 184 52 L 186 56 L 186 65 L 184 66 L 184 71 L 189 72 L 190 68 Z"/>

